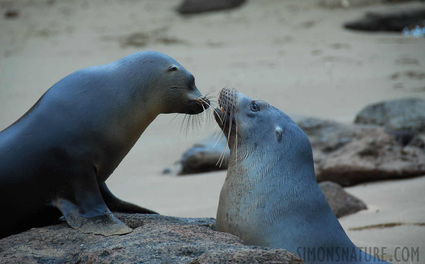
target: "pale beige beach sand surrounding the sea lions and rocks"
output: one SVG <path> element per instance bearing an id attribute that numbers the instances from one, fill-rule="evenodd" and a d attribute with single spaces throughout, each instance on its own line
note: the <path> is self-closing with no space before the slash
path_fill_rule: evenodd
<path id="1" fill-rule="evenodd" d="M 366 11 L 423 3 L 326 9 L 317 2 L 251 0 L 230 11 L 181 16 L 174 11 L 177 0 L 0 1 L 0 130 L 62 77 L 141 50 L 176 59 L 195 75 L 203 94 L 233 86 L 289 115 L 351 123 L 370 103 L 425 99 L 423 80 L 390 77 L 425 70 L 425 39 L 342 27 Z M 4 18 L 9 9 L 18 10 L 18 17 Z M 161 171 L 218 127 L 210 121 L 200 135 L 192 126 L 180 130 L 181 119 L 172 121 L 174 116 L 156 118 L 108 186 L 118 197 L 164 215 L 215 217 L 225 171 L 185 177 Z M 425 227 L 406 224 L 425 222 L 424 187 L 425 177 L 349 187 L 369 209 L 340 222 L 359 247 L 383 245 L 388 255 L 397 246 L 419 247 L 423 255 Z M 405 225 L 349 230 L 392 222 Z"/>

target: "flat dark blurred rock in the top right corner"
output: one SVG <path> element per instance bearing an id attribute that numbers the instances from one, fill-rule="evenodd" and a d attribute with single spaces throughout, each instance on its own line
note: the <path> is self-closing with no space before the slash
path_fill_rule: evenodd
<path id="1" fill-rule="evenodd" d="M 425 9 L 398 10 L 391 13 L 366 13 L 365 17 L 345 23 L 348 29 L 366 31 L 399 31 L 405 27 L 424 26 Z"/>

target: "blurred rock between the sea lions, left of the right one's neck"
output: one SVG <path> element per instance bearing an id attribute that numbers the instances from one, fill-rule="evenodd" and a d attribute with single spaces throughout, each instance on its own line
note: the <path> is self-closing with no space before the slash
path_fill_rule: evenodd
<path id="1" fill-rule="evenodd" d="M 227 169 L 230 150 L 226 138 L 209 137 L 193 145 L 181 155 L 179 175 Z M 220 142 L 221 141 L 221 142 Z M 222 160 L 223 158 L 223 160 Z"/>

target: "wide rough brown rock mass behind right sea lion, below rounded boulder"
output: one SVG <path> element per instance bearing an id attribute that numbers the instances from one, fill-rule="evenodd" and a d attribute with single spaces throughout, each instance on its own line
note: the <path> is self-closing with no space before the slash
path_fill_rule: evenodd
<path id="1" fill-rule="evenodd" d="M 421 141 L 403 146 L 374 125 L 345 125 L 320 118 L 291 117 L 309 137 L 318 182 L 350 186 L 365 181 L 425 174 Z"/>

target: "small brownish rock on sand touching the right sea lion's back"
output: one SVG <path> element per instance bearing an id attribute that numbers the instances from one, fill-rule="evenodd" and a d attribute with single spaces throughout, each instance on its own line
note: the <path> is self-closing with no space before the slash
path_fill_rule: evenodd
<path id="1" fill-rule="evenodd" d="M 341 185 L 337 183 L 323 181 L 319 183 L 319 187 L 337 218 L 367 209 L 363 201 L 348 194 Z"/>

